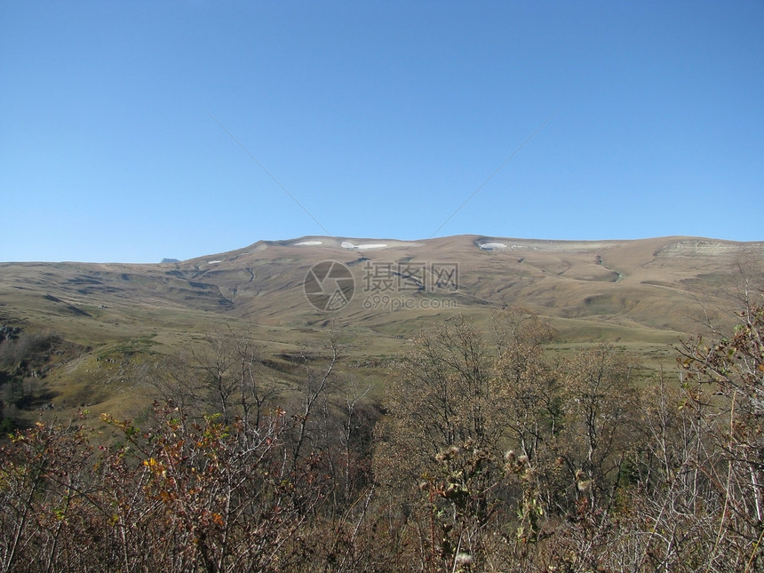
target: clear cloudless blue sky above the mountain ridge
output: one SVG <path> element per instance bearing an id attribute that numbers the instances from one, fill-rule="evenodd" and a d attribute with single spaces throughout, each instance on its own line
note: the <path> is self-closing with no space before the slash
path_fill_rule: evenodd
<path id="1" fill-rule="evenodd" d="M 763 30 L 759 0 L 6 0 L 0 260 L 762 240 Z"/>

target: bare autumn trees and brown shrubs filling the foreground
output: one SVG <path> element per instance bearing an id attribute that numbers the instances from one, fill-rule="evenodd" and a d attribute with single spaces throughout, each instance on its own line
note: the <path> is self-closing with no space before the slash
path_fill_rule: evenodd
<path id="1" fill-rule="evenodd" d="M 146 363 L 140 424 L 4 442 L 0 571 L 764 569 L 764 307 L 677 346 L 676 382 L 547 354 L 521 308 L 492 330 L 420 333 L 378 407 L 334 337 L 291 356 L 299 391 L 233 332 Z"/>

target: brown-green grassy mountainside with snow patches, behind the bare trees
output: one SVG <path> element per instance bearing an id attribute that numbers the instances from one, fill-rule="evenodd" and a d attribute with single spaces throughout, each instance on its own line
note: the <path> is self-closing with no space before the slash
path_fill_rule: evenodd
<path id="1" fill-rule="evenodd" d="M 322 245 L 295 244 L 310 239 Z M 365 365 L 355 374 L 379 384 L 384 364 L 427 323 L 461 313 L 489 330 L 490 312 L 507 305 L 548 317 L 560 331 L 561 352 L 610 341 L 657 365 L 667 354 L 670 360 L 666 345 L 702 330 L 707 315 L 717 322 L 728 318 L 741 267 L 760 280 L 764 248 L 686 237 L 566 243 L 465 235 L 353 242 L 389 246 L 348 250 L 341 239 L 306 237 L 158 265 L 0 264 L 0 323 L 53 331 L 81 345 L 81 355 L 54 360 L 46 378 L 60 408 L 135 410 L 146 402 L 145 394 L 131 391 L 125 374 L 136 356 L 172 354 L 198 343 L 205 332 L 229 328 L 249 332 L 270 357 L 321 346 L 327 330 L 341 330 L 352 343 L 349 362 Z M 507 248 L 478 247 L 488 242 Z M 322 260 L 345 263 L 354 274 L 353 300 L 333 314 L 316 311 L 303 293 L 306 272 Z M 458 264 L 458 291 L 406 292 L 413 307 L 395 312 L 364 307 L 373 294 L 363 291 L 364 264 L 400 261 Z M 453 300 L 458 308 L 422 308 L 425 299 L 430 306 Z M 278 368 L 274 376 L 290 378 Z"/>

